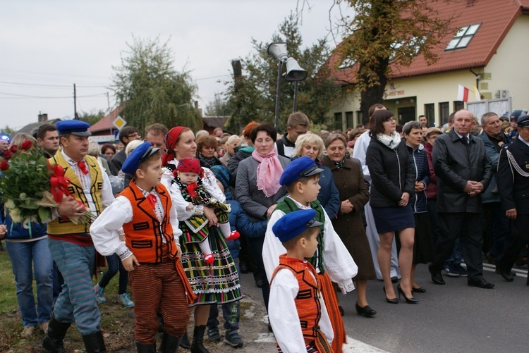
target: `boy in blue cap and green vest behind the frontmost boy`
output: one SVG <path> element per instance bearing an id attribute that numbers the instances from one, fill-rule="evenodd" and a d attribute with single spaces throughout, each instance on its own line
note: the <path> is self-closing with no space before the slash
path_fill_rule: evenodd
<path id="1" fill-rule="evenodd" d="M 343 343 L 346 342 L 346 333 L 332 282 L 339 286 L 343 294 L 351 292 L 355 288 L 352 278 L 358 272 L 358 266 L 341 242 L 339 235 L 334 231 L 329 216 L 325 213 L 320 202 L 317 201 L 317 194 L 320 191 L 318 180 L 322 171 L 308 156 L 300 157 L 286 166 L 279 183 L 286 186 L 288 196 L 277 204 L 269 218 L 265 244 L 262 249 L 262 259 L 270 280 L 274 269 L 279 264 L 279 256 L 285 252 L 281 242 L 274 236 L 272 230 L 274 224 L 279 218 L 292 211 L 299 209 L 314 209 L 316 211 L 316 220 L 322 223 L 320 234 L 317 237 L 319 244 L 315 254 L 308 261 L 318 273 L 322 295 L 331 318 L 334 331 L 332 349 L 334 352 L 340 353 Z"/>

